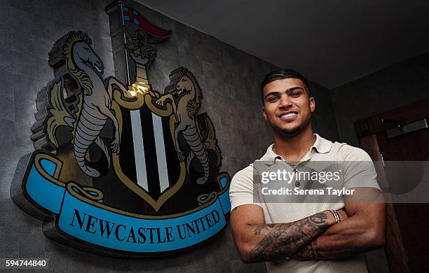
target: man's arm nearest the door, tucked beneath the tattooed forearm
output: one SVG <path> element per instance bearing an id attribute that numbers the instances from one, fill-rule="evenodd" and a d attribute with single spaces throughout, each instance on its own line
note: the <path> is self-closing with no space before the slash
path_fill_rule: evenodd
<path id="1" fill-rule="evenodd" d="M 346 201 L 347 221 L 328 228 L 320 237 L 301 248 L 291 258 L 299 260 L 320 260 L 346 258 L 384 244 L 386 206 L 379 190 L 356 188 L 356 195 L 371 198 L 372 203 L 362 204 Z M 356 198 L 356 197 L 355 197 Z M 362 198 L 363 197 L 358 197 Z M 374 202 L 379 200 L 379 203 Z"/>

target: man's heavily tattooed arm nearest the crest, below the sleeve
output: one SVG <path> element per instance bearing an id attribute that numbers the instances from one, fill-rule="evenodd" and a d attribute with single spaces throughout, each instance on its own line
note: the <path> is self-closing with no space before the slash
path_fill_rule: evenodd
<path id="1" fill-rule="evenodd" d="M 245 204 L 231 211 L 231 230 L 243 262 L 289 257 L 334 223 L 330 211 L 278 224 L 265 224 L 264 212 L 255 204 Z"/>

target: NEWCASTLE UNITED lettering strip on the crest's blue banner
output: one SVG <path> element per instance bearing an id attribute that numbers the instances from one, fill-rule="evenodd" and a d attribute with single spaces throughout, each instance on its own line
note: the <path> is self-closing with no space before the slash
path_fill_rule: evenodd
<path id="1" fill-rule="evenodd" d="M 84 232 L 100 237 L 114 237 L 117 241 L 130 244 L 163 244 L 175 240 L 184 240 L 210 230 L 219 222 L 220 216 L 216 210 L 203 215 L 189 223 L 163 228 L 135 227 L 124 223 L 113 223 L 85 212 L 74 209 L 74 216 L 69 225 Z"/>

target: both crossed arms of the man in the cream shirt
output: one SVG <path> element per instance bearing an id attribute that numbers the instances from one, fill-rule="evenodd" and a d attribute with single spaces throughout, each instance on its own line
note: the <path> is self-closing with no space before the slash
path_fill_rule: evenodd
<path id="1" fill-rule="evenodd" d="M 384 244 L 386 207 L 374 188 L 355 188 L 359 195 L 373 195 L 379 203 L 346 201 L 335 223 L 330 211 L 292 223 L 266 224 L 264 212 L 255 204 L 231 212 L 231 230 L 243 262 L 289 257 L 300 260 L 346 258 Z"/>

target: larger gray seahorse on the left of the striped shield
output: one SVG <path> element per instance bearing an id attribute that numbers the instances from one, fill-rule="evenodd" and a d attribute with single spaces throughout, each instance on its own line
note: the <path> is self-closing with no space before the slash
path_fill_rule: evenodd
<path id="1" fill-rule="evenodd" d="M 111 142 L 111 152 L 119 153 L 119 129 L 118 120 L 111 113 L 112 92 L 114 87 L 119 87 L 123 92 L 124 97 L 132 97 L 131 93 L 125 86 L 116 80 L 109 77 L 102 79 L 103 64 L 100 57 L 94 52 L 91 47 L 90 38 L 87 34 L 81 31 L 70 31 L 64 38 L 61 46 L 62 57 L 66 59 L 67 69 L 72 76 L 78 81 L 81 87 L 78 113 L 76 119 L 67 115 L 64 110 L 50 109 L 62 111 L 62 120 L 53 116 L 50 120 L 53 130 L 51 138 L 55 139 L 55 127 L 58 125 L 69 125 L 74 128 L 73 134 L 73 151 L 74 157 L 80 169 L 88 176 L 98 177 L 100 172 L 97 169 L 88 166 L 85 159 L 86 153 L 91 144 L 95 143 L 99 146 L 107 158 L 110 166 L 110 151 L 107 145 L 100 138 L 100 132 L 104 128 L 107 119 L 110 118 L 114 124 L 114 140 Z M 61 99 L 57 101 L 62 102 Z"/>

